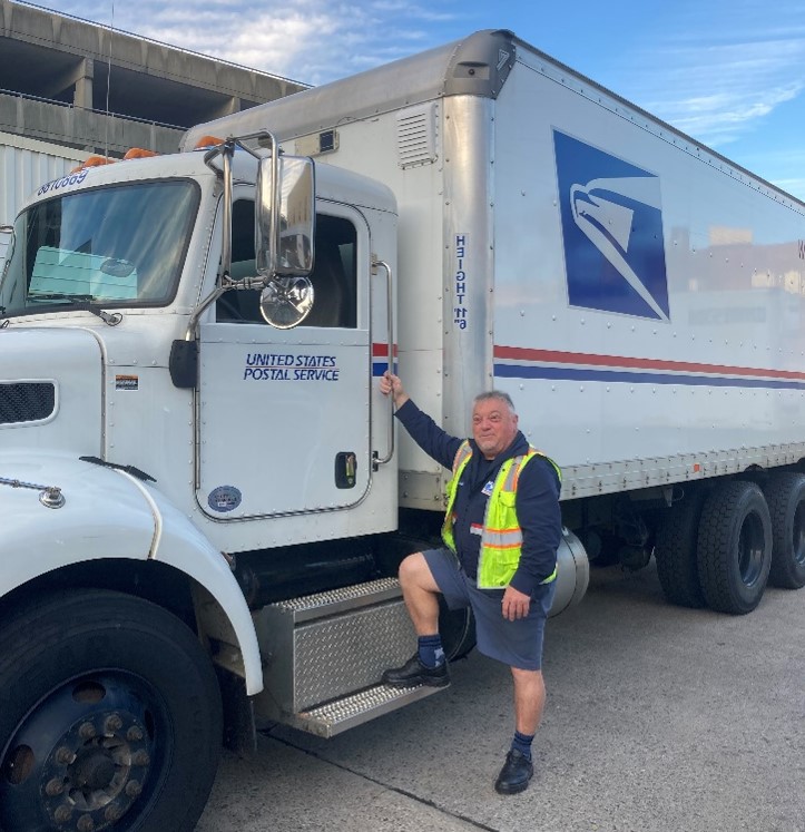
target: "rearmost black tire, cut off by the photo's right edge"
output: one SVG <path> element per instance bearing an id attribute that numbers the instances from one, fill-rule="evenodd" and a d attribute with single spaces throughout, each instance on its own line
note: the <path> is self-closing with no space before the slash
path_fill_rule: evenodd
<path id="1" fill-rule="evenodd" d="M 801 589 L 805 586 L 805 474 L 774 474 L 764 492 L 774 539 L 768 583 Z"/>

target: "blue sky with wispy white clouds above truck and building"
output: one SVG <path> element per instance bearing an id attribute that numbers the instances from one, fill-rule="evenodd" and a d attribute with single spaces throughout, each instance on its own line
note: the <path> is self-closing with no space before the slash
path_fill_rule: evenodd
<path id="1" fill-rule="evenodd" d="M 36 4 L 311 85 L 478 29 L 511 29 L 805 199 L 804 0 L 49 0 Z"/>

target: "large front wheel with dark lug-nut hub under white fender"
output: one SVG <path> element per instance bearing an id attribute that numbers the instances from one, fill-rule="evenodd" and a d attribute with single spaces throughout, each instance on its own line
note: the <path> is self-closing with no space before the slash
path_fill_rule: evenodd
<path id="1" fill-rule="evenodd" d="M 187 626 L 149 601 L 81 589 L 0 621 L 0 829 L 195 828 L 222 706 Z"/>

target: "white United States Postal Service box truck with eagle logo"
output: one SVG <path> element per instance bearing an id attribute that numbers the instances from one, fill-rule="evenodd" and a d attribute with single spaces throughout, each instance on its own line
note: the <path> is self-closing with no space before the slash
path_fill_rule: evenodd
<path id="1" fill-rule="evenodd" d="M 590 558 L 740 614 L 805 583 L 805 206 L 508 31 L 41 184 L 0 283 L 0 828 L 190 830 L 222 727 L 331 736 L 498 388 Z M 446 650 L 472 621 L 444 614 Z"/>

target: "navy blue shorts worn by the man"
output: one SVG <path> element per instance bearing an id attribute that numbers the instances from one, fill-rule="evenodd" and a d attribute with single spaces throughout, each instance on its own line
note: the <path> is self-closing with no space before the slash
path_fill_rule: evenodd
<path id="1" fill-rule="evenodd" d="M 503 589 L 479 589 L 449 549 L 428 549 L 422 555 L 448 607 L 472 608 L 478 649 L 484 656 L 521 671 L 542 667 L 542 637 L 556 581 L 538 586 L 531 596 L 528 615 L 510 621 L 503 618 Z"/>

